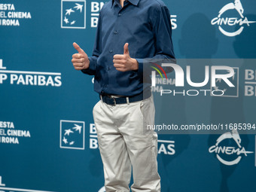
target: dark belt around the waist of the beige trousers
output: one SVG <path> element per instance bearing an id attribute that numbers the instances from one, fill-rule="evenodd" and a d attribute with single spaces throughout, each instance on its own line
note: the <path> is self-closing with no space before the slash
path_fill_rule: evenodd
<path id="1" fill-rule="evenodd" d="M 102 102 L 105 102 L 108 105 L 118 105 L 118 104 L 130 103 L 130 102 L 139 102 L 139 101 L 142 101 L 143 99 L 148 99 L 150 96 L 151 96 L 151 93 L 143 94 L 142 92 L 136 96 L 120 96 L 120 97 L 113 97 L 107 94 L 100 94 L 99 98 L 102 100 Z"/>

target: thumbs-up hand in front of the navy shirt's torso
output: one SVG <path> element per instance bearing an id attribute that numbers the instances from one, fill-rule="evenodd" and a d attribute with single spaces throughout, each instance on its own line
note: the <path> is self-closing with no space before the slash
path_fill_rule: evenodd
<path id="1" fill-rule="evenodd" d="M 128 72 L 139 69 L 139 63 L 137 60 L 130 57 L 128 46 L 128 43 L 124 44 L 123 55 L 114 55 L 114 67 L 119 72 Z"/>

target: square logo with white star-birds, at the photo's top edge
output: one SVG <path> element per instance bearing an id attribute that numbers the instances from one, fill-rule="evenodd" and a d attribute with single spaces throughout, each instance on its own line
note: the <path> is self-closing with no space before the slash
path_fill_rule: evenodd
<path id="1" fill-rule="evenodd" d="M 86 1 L 62 0 L 61 1 L 61 28 L 85 29 L 86 28 Z"/>

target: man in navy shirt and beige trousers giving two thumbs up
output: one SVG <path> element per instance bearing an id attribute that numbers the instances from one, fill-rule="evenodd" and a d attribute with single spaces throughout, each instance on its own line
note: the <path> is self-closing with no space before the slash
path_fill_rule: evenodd
<path id="1" fill-rule="evenodd" d="M 105 190 L 160 191 L 157 133 L 145 58 L 174 59 L 170 14 L 160 0 L 111 0 L 99 14 L 93 56 L 78 44 L 75 69 L 94 75 L 100 101 L 93 108 L 105 176 Z"/>

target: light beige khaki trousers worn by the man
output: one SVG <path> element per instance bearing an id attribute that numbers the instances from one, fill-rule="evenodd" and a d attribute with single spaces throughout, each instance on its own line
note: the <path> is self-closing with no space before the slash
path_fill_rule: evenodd
<path id="1" fill-rule="evenodd" d="M 106 192 L 160 192 L 157 172 L 157 133 L 146 130 L 154 124 L 152 96 L 140 102 L 93 108 L 93 118 L 102 157 Z"/>

